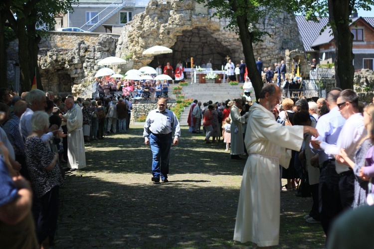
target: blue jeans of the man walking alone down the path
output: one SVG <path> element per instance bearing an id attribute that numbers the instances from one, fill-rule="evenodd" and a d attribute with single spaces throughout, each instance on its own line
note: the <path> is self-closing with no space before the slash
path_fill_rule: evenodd
<path id="1" fill-rule="evenodd" d="M 150 134 L 149 141 L 152 150 L 152 174 L 153 177 L 164 180 L 169 174 L 170 148 L 172 146 L 172 132 L 164 136 Z"/>

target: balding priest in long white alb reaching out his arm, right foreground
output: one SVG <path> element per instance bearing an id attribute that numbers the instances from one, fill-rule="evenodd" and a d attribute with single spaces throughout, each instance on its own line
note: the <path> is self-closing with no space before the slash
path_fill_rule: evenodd
<path id="1" fill-rule="evenodd" d="M 241 181 L 234 241 L 250 241 L 260 248 L 279 244 L 279 164 L 289 164 L 291 154 L 286 148 L 300 150 L 304 133 L 318 134 L 311 126 L 277 123 L 272 110 L 280 98 L 277 85 L 262 88 L 259 104 L 249 109 L 244 139 L 249 156 Z"/>

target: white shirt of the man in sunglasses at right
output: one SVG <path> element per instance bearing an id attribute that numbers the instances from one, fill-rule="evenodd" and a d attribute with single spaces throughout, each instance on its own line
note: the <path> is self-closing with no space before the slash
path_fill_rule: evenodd
<path id="1" fill-rule="evenodd" d="M 323 116 L 322 116 L 323 117 Z M 321 118 L 322 118 L 321 117 Z M 340 153 L 340 149 L 346 150 L 347 155 L 354 161 L 357 145 L 367 135 L 364 125 L 364 117 L 361 113 L 357 113 L 348 118 L 339 134 L 336 145 L 321 142 L 320 146 L 326 154 L 335 156 Z M 350 168 L 336 161 L 336 172 L 338 174 L 350 170 Z"/>

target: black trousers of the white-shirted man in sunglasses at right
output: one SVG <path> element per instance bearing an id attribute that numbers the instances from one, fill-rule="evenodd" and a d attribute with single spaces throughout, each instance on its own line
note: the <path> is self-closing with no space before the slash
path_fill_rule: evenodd
<path id="1" fill-rule="evenodd" d="M 343 209 L 352 208 L 355 199 L 355 175 L 353 170 L 339 174 L 339 193 Z"/>

